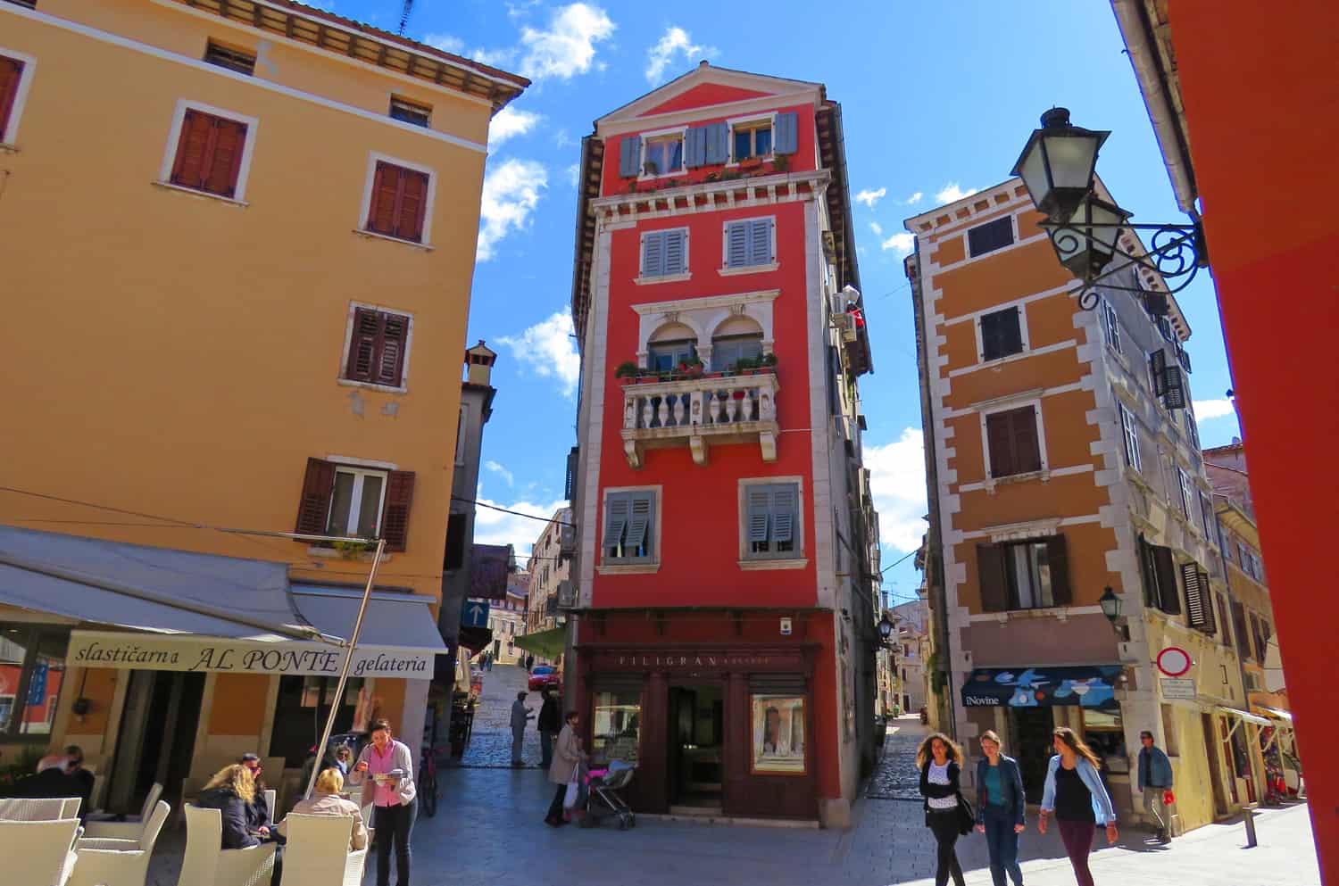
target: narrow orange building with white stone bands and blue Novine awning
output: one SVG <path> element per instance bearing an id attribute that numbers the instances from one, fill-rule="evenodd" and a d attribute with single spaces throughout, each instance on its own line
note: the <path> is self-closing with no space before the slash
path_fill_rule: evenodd
<path id="1" fill-rule="evenodd" d="M 1139 810 L 1135 755 L 1153 732 L 1189 830 L 1255 799 L 1249 748 L 1269 723 L 1237 676 L 1190 329 L 1170 294 L 1162 317 L 1114 290 L 1079 308 L 1040 218 L 1010 179 L 907 222 L 935 669 L 957 737 L 1004 736 L 1031 802 L 1051 729 L 1069 725 L 1103 756 L 1117 810 Z M 1164 648 L 1193 668 L 1165 679 Z"/>

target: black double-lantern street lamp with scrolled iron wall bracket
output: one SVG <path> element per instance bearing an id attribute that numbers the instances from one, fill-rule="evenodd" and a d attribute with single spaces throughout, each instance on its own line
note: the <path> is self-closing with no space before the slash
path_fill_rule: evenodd
<path id="1" fill-rule="evenodd" d="M 1139 285 L 1138 273 L 1133 286 L 1115 284 L 1113 278 L 1127 268 L 1156 272 L 1170 292 L 1180 292 L 1208 265 L 1198 219 L 1189 225 L 1131 225 L 1129 211 L 1094 194 L 1097 155 L 1109 135 L 1073 126 L 1066 108 L 1052 107 L 1042 115 L 1042 128 L 1028 137 L 1012 170 L 1046 214 L 1038 225 L 1050 236 L 1060 264 L 1082 281 L 1077 294 L 1086 311 L 1097 306 L 1098 282 L 1106 289 L 1137 292 L 1150 305 L 1165 302 L 1164 296 Z M 1149 232 L 1146 252 L 1121 250 L 1123 230 Z M 1123 261 L 1111 266 L 1117 256 Z"/>

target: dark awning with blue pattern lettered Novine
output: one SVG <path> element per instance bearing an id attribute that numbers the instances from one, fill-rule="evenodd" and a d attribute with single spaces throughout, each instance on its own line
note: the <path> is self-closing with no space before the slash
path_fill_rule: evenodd
<path id="1" fill-rule="evenodd" d="M 1121 673 L 1121 665 L 976 668 L 963 683 L 963 707 L 1115 709 Z"/>

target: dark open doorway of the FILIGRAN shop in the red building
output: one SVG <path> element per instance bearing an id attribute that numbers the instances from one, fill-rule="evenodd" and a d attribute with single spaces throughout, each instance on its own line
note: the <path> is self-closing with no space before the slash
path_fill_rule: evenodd
<path id="1" fill-rule="evenodd" d="M 670 687 L 670 806 L 720 808 L 724 709 L 719 684 Z"/>

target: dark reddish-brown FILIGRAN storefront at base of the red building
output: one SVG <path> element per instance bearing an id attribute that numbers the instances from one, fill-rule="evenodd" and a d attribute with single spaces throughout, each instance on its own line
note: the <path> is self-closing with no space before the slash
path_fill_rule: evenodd
<path id="1" fill-rule="evenodd" d="M 720 812 L 817 819 L 814 739 L 818 731 L 813 692 L 817 652 L 818 644 L 811 642 L 584 644 L 577 648 L 577 668 L 588 747 L 612 747 L 596 735 L 600 700 L 617 697 L 628 703 L 637 699 L 637 772 L 625 796 L 637 811 L 670 811 L 692 787 L 684 784 L 682 775 L 683 748 L 691 745 L 679 741 L 684 731 L 691 729 L 683 721 L 684 704 L 691 704 L 690 696 L 700 695 L 712 700 L 699 708 L 704 732 L 719 731 Z M 633 715 L 627 704 L 623 707 L 621 721 L 629 724 Z M 608 715 L 599 719 L 608 721 Z M 631 727 L 627 731 L 631 732 Z M 766 747 L 781 749 L 778 736 L 782 731 L 786 732 L 785 759 L 769 756 L 761 743 L 770 736 L 771 743 Z M 628 739 L 623 741 L 625 752 Z M 802 749 L 795 749 L 795 744 L 802 744 Z M 716 754 L 708 759 L 715 762 Z"/>

